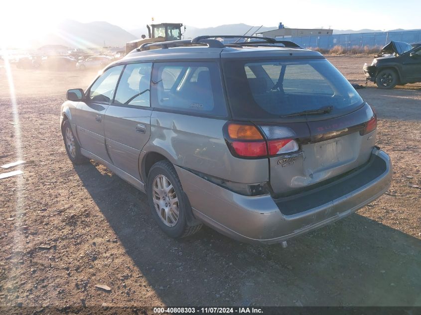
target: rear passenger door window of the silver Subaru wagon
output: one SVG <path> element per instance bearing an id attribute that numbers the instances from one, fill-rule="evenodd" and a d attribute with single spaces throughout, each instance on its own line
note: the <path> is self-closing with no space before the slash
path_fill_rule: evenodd
<path id="1" fill-rule="evenodd" d="M 150 72 L 152 63 L 129 64 L 117 87 L 115 104 L 150 106 Z"/>

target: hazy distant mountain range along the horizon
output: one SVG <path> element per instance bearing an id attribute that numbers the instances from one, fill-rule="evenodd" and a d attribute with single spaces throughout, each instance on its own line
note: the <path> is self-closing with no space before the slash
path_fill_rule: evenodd
<path id="1" fill-rule="evenodd" d="M 259 29 L 258 26 L 240 24 L 225 24 L 216 27 L 198 28 L 186 26 L 184 38 L 194 38 L 199 35 L 252 35 L 257 30 L 260 32 L 278 28 L 277 26 Z M 400 31 L 397 29 L 392 31 Z M 382 32 L 382 30 L 361 29 L 361 30 L 334 30 L 334 34 Z M 104 21 L 81 23 L 74 20 L 65 20 L 59 24 L 54 32 L 44 34 L 38 38 L 32 38 L 30 45 L 37 48 L 43 45 L 64 45 L 72 48 L 88 47 L 124 47 L 126 42 L 140 38 L 141 34 L 147 35 L 146 23 L 143 27 L 129 31 L 120 26 Z"/>

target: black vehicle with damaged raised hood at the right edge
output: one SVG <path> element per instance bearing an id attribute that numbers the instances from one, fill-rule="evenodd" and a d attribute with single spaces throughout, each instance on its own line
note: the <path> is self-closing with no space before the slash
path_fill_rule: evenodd
<path id="1" fill-rule="evenodd" d="M 364 64 L 363 71 L 367 80 L 380 89 L 421 82 L 421 46 L 391 41 L 370 66 Z"/>

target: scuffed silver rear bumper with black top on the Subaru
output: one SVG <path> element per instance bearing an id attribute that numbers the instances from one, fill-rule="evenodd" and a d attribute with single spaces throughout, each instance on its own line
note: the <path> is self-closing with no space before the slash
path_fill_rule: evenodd
<path id="1" fill-rule="evenodd" d="M 392 178 L 391 160 L 379 148 L 373 149 L 368 163 L 337 181 L 277 200 L 239 195 L 178 166 L 176 170 L 197 219 L 234 239 L 265 244 L 355 212 L 383 195 Z"/>

